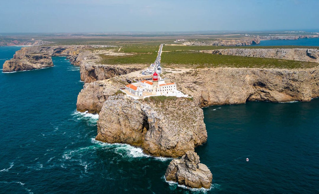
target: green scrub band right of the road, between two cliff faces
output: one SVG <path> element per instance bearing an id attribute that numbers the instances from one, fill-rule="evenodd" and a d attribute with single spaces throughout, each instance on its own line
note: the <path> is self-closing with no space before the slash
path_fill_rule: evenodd
<path id="1" fill-rule="evenodd" d="M 162 54 L 161 63 L 164 68 L 313 68 L 315 62 L 290 61 L 257 57 L 243 57 L 199 53 L 195 51 L 172 51 Z M 165 72 L 164 72 L 165 73 Z"/>

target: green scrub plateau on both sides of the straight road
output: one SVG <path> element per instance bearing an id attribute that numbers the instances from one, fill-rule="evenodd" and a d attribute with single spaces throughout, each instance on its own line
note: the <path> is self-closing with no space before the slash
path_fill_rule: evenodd
<path id="1" fill-rule="evenodd" d="M 101 54 L 101 63 L 109 65 L 123 64 L 145 64 L 153 63 L 157 57 L 159 44 L 163 40 L 112 40 L 110 45 L 116 47 L 97 48 L 96 50 L 110 50 L 119 53 L 130 53 L 132 55 L 113 56 Z M 121 50 L 118 49 L 121 47 Z M 161 65 L 164 68 L 212 68 L 212 67 L 236 67 L 236 68 L 312 68 L 318 63 L 304 61 L 289 61 L 279 59 L 267 59 L 256 57 L 242 57 L 230 55 L 216 55 L 199 53 L 197 50 L 212 50 L 224 48 L 309 48 L 303 46 L 246 46 L 246 47 L 223 47 L 223 46 L 167 46 L 163 47 Z M 319 48 L 319 47 L 311 47 Z M 171 71 L 163 71 L 163 74 Z"/>

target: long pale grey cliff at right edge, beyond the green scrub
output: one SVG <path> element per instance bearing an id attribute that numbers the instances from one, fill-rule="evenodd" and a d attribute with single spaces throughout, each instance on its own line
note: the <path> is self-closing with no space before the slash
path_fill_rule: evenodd
<path id="1" fill-rule="evenodd" d="M 211 54 L 225 54 L 247 57 L 319 62 L 319 49 L 311 48 L 229 48 L 218 50 L 203 50 L 200 52 Z"/>

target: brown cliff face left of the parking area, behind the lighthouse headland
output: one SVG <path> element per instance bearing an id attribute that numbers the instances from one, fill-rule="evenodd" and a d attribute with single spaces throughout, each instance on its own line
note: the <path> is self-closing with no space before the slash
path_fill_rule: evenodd
<path id="1" fill-rule="evenodd" d="M 138 64 L 130 64 L 130 66 L 102 65 L 93 61 L 83 61 L 80 64 L 81 81 L 85 83 L 109 79 L 118 75 L 126 75 L 141 69 L 143 69 L 143 66 Z"/>

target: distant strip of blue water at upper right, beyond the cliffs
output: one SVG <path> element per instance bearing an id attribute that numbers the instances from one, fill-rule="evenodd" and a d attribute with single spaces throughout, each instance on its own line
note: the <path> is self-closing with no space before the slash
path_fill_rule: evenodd
<path id="1" fill-rule="evenodd" d="M 251 46 L 319 46 L 319 38 L 298 39 L 298 40 L 261 40 L 258 45 Z"/>

